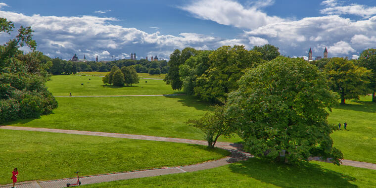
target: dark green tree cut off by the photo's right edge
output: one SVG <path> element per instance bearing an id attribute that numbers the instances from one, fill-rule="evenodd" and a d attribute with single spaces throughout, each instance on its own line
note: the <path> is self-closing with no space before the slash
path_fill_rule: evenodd
<path id="1" fill-rule="evenodd" d="M 376 102 L 376 49 L 370 48 L 364 50 L 358 59 L 360 66 L 366 67 L 372 71 L 372 76 L 370 78 L 370 84 L 368 84 L 368 87 L 372 91 L 372 102 Z"/>

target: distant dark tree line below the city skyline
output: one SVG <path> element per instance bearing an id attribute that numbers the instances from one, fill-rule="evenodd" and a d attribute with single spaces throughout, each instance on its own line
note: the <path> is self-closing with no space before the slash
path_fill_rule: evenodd
<path id="1" fill-rule="evenodd" d="M 112 67 L 134 67 L 137 73 L 166 74 L 169 71 L 168 63 L 166 60 L 161 61 L 148 61 L 146 59 L 132 60 L 121 59 L 110 62 L 77 62 L 70 60 L 62 60 L 59 58 L 51 59 L 45 56 L 48 61 L 52 62 L 52 67 L 47 71 L 52 75 L 70 75 L 77 72 L 108 72 Z"/>

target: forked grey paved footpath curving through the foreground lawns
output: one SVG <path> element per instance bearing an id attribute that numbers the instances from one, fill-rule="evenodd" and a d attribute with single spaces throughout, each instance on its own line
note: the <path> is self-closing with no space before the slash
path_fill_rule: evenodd
<path id="1" fill-rule="evenodd" d="M 125 138 L 125 139 L 136 139 L 136 140 L 147 140 L 147 141 L 168 141 L 168 142 L 207 145 L 206 141 L 155 137 L 155 136 L 146 136 L 146 135 L 130 135 L 130 134 L 120 134 L 120 133 L 103 133 L 103 132 L 91 132 L 91 131 L 75 131 L 75 130 L 32 128 L 32 127 L 13 127 L 13 126 L 0 126 L 0 129 L 20 130 L 20 131 L 39 131 L 39 132 L 50 132 L 50 133 L 64 133 L 64 134 L 90 135 L 90 136 Z M 217 142 L 216 146 L 219 148 L 229 150 L 232 154 L 222 159 L 218 159 L 214 161 L 207 161 L 204 163 L 199 163 L 199 164 L 194 164 L 194 165 L 92 175 L 92 176 L 81 177 L 80 180 L 83 185 L 86 185 L 86 184 L 95 184 L 95 183 L 101 183 L 101 182 L 111 182 L 111 181 L 116 181 L 116 180 L 127 180 L 127 179 L 133 179 L 133 178 L 144 178 L 144 177 L 160 176 L 160 175 L 167 175 L 167 174 L 194 172 L 194 171 L 224 166 L 227 164 L 246 160 L 250 157 L 253 157 L 251 154 L 243 152 L 241 150 L 240 144 L 229 143 L 229 142 Z M 316 158 L 316 157 L 313 157 L 311 159 L 320 160 L 319 158 Z M 376 164 L 373 164 L 373 163 L 342 160 L 342 165 L 376 170 Z M 67 183 L 75 183 L 75 181 L 76 181 L 75 178 L 67 178 L 67 179 L 40 181 L 40 182 L 39 181 L 21 182 L 17 184 L 17 188 L 63 188 L 63 187 L 66 187 Z M 10 188 L 10 187 L 11 185 L 0 186 L 0 188 Z"/>

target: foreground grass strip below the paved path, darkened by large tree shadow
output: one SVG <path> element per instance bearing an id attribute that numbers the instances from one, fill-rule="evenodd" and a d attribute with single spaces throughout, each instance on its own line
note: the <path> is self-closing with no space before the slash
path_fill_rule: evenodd
<path id="1" fill-rule="evenodd" d="M 300 166 L 257 158 L 185 174 L 131 179 L 85 188 L 372 188 L 376 171 L 312 161 Z"/>

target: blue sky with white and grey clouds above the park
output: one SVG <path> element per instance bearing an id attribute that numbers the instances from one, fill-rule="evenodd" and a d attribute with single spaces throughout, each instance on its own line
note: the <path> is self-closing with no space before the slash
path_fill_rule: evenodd
<path id="1" fill-rule="evenodd" d="M 168 59 L 176 48 L 238 44 L 356 58 L 376 47 L 376 0 L 0 0 L 0 17 L 32 26 L 38 50 L 63 59 Z"/>

